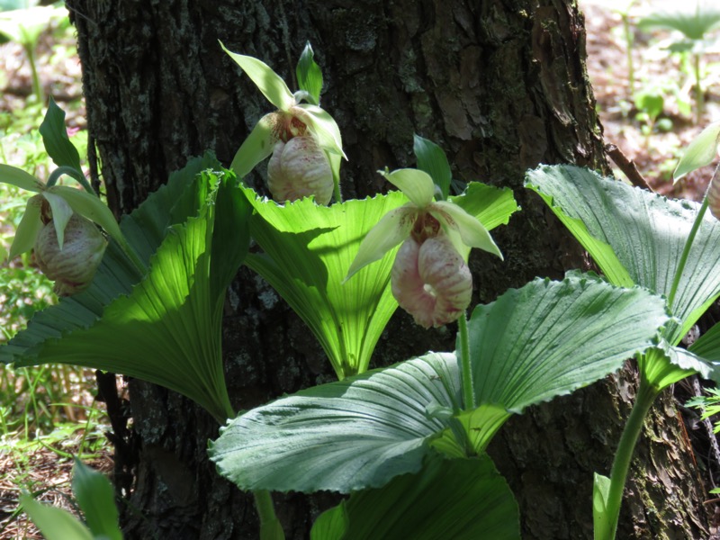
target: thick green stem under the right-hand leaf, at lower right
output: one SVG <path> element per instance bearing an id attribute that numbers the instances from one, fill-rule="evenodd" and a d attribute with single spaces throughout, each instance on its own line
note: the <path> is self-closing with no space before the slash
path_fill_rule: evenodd
<path id="1" fill-rule="evenodd" d="M 640 380 L 640 387 L 637 389 L 635 396 L 635 405 L 630 411 L 630 417 L 627 419 L 623 435 L 617 445 L 613 468 L 610 473 L 610 490 L 608 491 L 608 502 L 606 512 L 609 520 L 608 538 L 599 538 L 598 540 L 613 540 L 617 531 L 617 519 L 620 516 L 620 506 L 623 502 L 623 490 L 627 472 L 630 469 L 630 461 L 633 458 L 635 443 L 643 431 L 645 416 L 653 406 L 655 398 L 659 391 L 650 383 L 646 383 L 644 378 Z"/>

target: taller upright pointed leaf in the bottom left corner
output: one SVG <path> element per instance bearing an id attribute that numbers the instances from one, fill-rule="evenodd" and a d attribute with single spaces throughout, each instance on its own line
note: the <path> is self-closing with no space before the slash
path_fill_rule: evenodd
<path id="1" fill-rule="evenodd" d="M 87 527 L 93 535 L 107 540 L 122 540 L 115 491 L 110 481 L 76 459 L 72 485 L 77 504 L 83 510 Z"/>

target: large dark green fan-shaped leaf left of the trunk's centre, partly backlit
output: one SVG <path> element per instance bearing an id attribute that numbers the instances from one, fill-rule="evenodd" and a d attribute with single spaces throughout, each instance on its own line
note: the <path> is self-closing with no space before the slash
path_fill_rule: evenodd
<path id="1" fill-rule="evenodd" d="M 208 163 L 210 157 L 195 160 L 151 196 L 149 206 L 122 221 L 133 247 L 150 261 L 141 282 L 115 246 L 88 291 L 40 312 L 0 349 L 2 360 L 128 374 L 184 393 L 226 418 L 222 305 L 247 252 L 249 205 L 233 187 L 234 176 L 221 178 L 212 191 L 218 175 L 198 175 Z"/>

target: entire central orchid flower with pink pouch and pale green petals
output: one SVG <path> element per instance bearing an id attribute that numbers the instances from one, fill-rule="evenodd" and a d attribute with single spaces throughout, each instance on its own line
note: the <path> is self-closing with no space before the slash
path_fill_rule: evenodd
<path id="1" fill-rule="evenodd" d="M 456 320 L 470 304 L 468 247 L 502 258 L 487 229 L 453 202 L 433 201 L 432 178 L 417 169 L 382 175 L 410 202 L 386 214 L 360 244 L 346 280 L 403 242 L 392 266 L 392 295 L 425 327 Z M 465 254 L 465 256 L 461 255 Z"/>

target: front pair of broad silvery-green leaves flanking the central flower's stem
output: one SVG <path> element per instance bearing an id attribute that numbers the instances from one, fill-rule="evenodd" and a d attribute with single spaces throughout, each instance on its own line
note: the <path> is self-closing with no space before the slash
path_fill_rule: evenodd
<path id="1" fill-rule="evenodd" d="M 251 410 L 223 431 L 211 457 L 244 490 L 379 487 L 417 472 L 428 443 L 464 455 L 470 439 L 482 451 L 510 414 L 616 371 L 653 346 L 667 321 L 662 299 L 640 288 L 594 275 L 538 279 L 474 311 L 480 407 L 459 414 L 460 423 L 457 359 L 430 354 Z"/>

